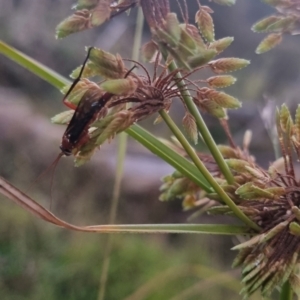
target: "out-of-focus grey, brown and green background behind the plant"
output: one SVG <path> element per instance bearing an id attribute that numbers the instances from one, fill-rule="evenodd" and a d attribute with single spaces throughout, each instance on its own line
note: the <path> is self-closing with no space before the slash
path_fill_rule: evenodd
<path id="1" fill-rule="evenodd" d="M 171 2 L 178 10 L 176 1 Z M 135 9 L 101 28 L 56 40 L 55 26 L 72 13 L 73 4 L 62 0 L 0 0 L 0 38 L 64 76 L 81 64 L 85 46 L 131 57 Z M 188 0 L 188 4 L 193 22 L 196 1 Z M 272 8 L 258 0 L 238 0 L 232 7 L 209 5 L 215 11 L 216 37 L 235 38 L 222 56 L 252 62 L 233 74 L 238 82 L 227 89 L 243 102 L 242 109 L 230 114 L 230 124 L 239 143 L 246 129 L 253 131 L 251 151 L 267 167 L 274 151 L 260 116 L 266 105 L 263 96 L 273 99 L 275 105 L 286 102 L 293 108 L 298 103 L 298 38 L 286 36 L 279 47 L 258 56 L 254 51 L 264 35 L 253 33 L 250 27 L 271 14 Z M 145 26 L 143 41 L 149 38 Z M 0 175 L 49 207 L 51 172 L 31 185 L 59 153 L 64 128 L 52 125 L 50 117 L 65 109 L 62 95 L 4 56 L 0 56 L 0 68 Z M 171 110 L 179 123 L 182 113 L 180 105 Z M 206 120 L 216 140 L 224 142 L 218 122 Z M 163 124 L 154 127 L 151 120 L 142 125 L 159 136 L 170 137 Z M 201 144 L 198 147 L 203 149 Z M 78 225 L 108 222 L 116 148 L 116 141 L 104 145 L 80 168 L 74 168 L 71 158 L 62 159 L 54 175 L 55 214 Z M 180 201 L 158 201 L 160 178 L 170 172 L 171 167 L 130 140 L 117 223 L 186 222 L 190 213 L 182 211 Z M 0 205 L 1 299 L 97 299 L 107 236 L 74 233 L 46 224 L 2 196 Z M 221 220 L 207 216 L 193 220 L 211 221 Z M 240 286 L 231 279 L 239 278 L 238 270 L 230 267 L 235 255 L 230 248 L 235 242 L 221 236 L 116 235 L 105 299 L 240 299 Z"/>

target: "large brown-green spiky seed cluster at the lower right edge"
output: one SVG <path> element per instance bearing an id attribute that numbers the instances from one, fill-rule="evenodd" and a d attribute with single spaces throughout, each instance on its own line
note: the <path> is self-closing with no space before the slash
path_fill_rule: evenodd
<path id="1" fill-rule="evenodd" d="M 300 182 L 296 177 L 293 153 L 299 159 L 300 106 L 295 118 L 283 105 L 277 113 L 277 131 L 283 157 L 261 168 L 248 151 L 249 134 L 244 147 L 219 146 L 233 172 L 235 183 L 228 184 L 218 172 L 211 157 L 199 157 L 217 178 L 226 193 L 238 207 L 256 224 L 261 232 L 235 246 L 238 250 L 234 267 L 242 267 L 242 290 L 245 298 L 256 290 L 269 296 L 276 286 L 289 281 L 295 291 L 300 278 L 297 264 L 300 262 Z M 178 150 L 180 151 L 180 149 Z M 201 213 L 233 215 L 215 193 L 207 193 L 175 172 L 166 176 L 162 185 L 161 200 L 183 200 L 185 209 L 198 208 Z"/>

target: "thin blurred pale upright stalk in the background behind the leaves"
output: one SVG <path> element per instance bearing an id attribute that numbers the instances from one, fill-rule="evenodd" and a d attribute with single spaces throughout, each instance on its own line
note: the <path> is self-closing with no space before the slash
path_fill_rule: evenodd
<path id="1" fill-rule="evenodd" d="M 132 59 L 138 61 L 139 49 L 141 46 L 142 34 L 143 34 L 143 24 L 144 24 L 144 16 L 141 9 L 138 9 L 136 23 L 137 24 L 135 28 L 135 34 L 134 34 Z M 116 179 L 113 188 L 113 197 L 112 197 L 112 204 L 110 209 L 109 224 L 114 224 L 117 216 L 117 210 L 118 210 L 120 192 L 121 192 L 121 182 L 123 178 L 123 169 L 124 169 L 124 162 L 125 162 L 126 149 L 127 149 L 127 139 L 128 136 L 125 132 L 122 132 L 118 135 L 117 170 L 116 170 Z M 103 266 L 102 266 L 102 272 L 100 277 L 100 288 L 99 288 L 98 300 L 104 300 L 105 298 L 105 290 L 107 286 L 112 244 L 113 244 L 113 235 L 110 234 L 107 238 L 107 243 L 104 249 Z"/>

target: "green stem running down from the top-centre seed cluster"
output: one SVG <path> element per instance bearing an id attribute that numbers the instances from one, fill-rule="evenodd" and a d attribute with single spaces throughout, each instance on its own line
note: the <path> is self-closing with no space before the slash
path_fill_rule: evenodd
<path id="1" fill-rule="evenodd" d="M 177 67 L 175 61 L 173 60 L 169 65 L 169 70 L 172 72 L 177 69 L 178 69 L 178 67 Z M 177 73 L 176 78 L 182 79 L 182 75 L 180 73 Z M 187 106 L 189 112 L 195 118 L 197 128 L 198 128 L 199 132 L 201 133 L 209 151 L 211 152 L 212 156 L 214 157 L 217 165 L 219 166 L 222 174 L 224 175 L 225 179 L 227 180 L 227 182 L 229 184 L 234 183 L 234 177 L 233 177 L 229 167 L 227 166 L 221 152 L 219 151 L 214 139 L 212 138 L 197 106 L 193 102 L 193 99 L 192 99 L 189 91 L 186 89 L 184 80 L 179 80 L 179 82 L 177 83 L 177 86 L 180 90 L 180 93 L 186 103 L 186 106 Z"/>

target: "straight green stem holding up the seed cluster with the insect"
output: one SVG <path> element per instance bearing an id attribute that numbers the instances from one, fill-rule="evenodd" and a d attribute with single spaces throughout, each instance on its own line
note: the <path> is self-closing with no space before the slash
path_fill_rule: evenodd
<path id="1" fill-rule="evenodd" d="M 241 219 L 245 224 L 250 226 L 251 228 L 255 230 L 260 230 L 259 226 L 257 226 L 253 221 L 251 221 L 239 208 L 238 206 L 230 199 L 230 197 L 225 193 L 225 191 L 222 189 L 222 187 L 215 181 L 213 176 L 210 174 L 210 172 L 207 170 L 205 165 L 202 163 L 202 161 L 197 156 L 195 150 L 191 147 L 183 133 L 179 130 L 177 125 L 174 123 L 172 118 L 164 111 L 160 111 L 161 117 L 164 119 L 166 124 L 169 126 L 171 131 L 174 133 L 178 141 L 181 143 L 189 157 L 192 159 L 196 167 L 199 169 L 199 171 L 203 174 L 205 179 L 208 181 L 208 183 L 212 186 L 212 188 L 215 190 L 215 192 L 221 197 L 221 199 L 230 207 L 230 209 L 234 212 L 234 214 Z"/>

